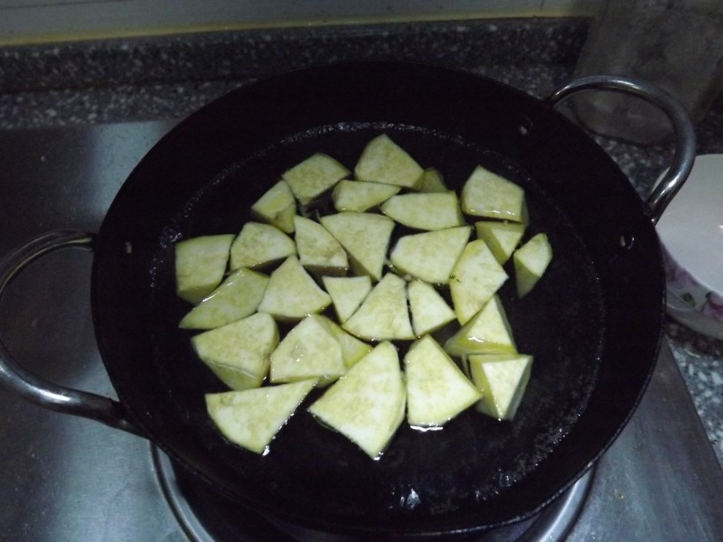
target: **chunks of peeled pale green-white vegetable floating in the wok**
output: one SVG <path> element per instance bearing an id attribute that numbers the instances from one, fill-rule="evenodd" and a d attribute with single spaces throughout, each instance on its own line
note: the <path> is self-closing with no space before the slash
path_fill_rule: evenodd
<path id="1" fill-rule="evenodd" d="M 544 234 L 520 247 L 524 191 L 479 166 L 458 198 L 388 135 L 353 171 L 349 179 L 346 166 L 314 154 L 252 205 L 258 221 L 235 238 L 176 245 L 178 294 L 198 304 L 180 326 L 208 330 L 192 345 L 237 390 L 207 395 L 209 415 L 252 452 L 268 453 L 314 387 L 328 386 L 308 411 L 371 458 L 405 414 L 428 428 L 474 404 L 501 420 L 520 406 L 532 358 L 517 353 L 497 295 L 509 278 L 502 265 L 512 255 L 521 297 L 551 260 Z M 336 212 L 314 211 L 323 198 Z M 437 336 L 448 337 L 444 348 Z"/>

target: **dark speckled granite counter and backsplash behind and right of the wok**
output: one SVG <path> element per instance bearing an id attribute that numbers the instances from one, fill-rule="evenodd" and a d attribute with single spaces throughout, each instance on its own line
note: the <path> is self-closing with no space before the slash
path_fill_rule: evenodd
<path id="1" fill-rule="evenodd" d="M 394 23 L 198 33 L 0 49 L 0 129 L 185 117 L 269 74 L 351 59 L 471 70 L 541 97 L 569 79 L 587 20 Z M 699 154 L 723 153 L 723 105 L 698 126 Z M 671 148 L 598 138 L 645 196 Z M 675 322 L 668 341 L 723 463 L 723 343 Z"/>

